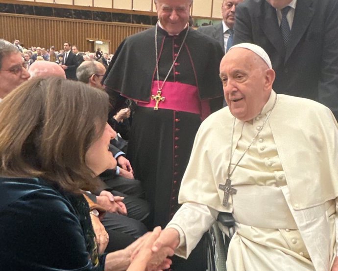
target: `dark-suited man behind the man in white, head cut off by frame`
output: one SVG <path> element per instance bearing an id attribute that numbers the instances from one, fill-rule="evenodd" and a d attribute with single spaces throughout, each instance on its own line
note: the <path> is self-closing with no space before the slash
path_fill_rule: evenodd
<path id="1" fill-rule="evenodd" d="M 246 0 L 236 10 L 234 44 L 267 52 L 277 93 L 318 101 L 337 119 L 337 14 L 337 0 Z"/>

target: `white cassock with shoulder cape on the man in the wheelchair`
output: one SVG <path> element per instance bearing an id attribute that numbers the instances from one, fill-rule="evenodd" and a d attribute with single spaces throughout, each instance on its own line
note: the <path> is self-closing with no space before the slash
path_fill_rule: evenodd
<path id="1" fill-rule="evenodd" d="M 218 212 L 233 212 L 228 271 L 329 271 L 337 255 L 338 124 L 329 108 L 277 95 L 275 108 L 231 177 L 237 193 L 222 205 L 218 189 L 272 108 L 276 93 L 249 122 L 222 108 L 201 125 L 182 180 L 184 203 L 167 227 L 180 232 L 187 257 Z"/>

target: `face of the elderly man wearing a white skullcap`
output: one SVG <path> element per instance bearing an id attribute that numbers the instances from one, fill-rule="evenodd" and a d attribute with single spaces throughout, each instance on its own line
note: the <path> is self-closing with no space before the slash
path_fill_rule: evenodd
<path id="1" fill-rule="evenodd" d="M 274 71 L 260 56 L 244 48 L 225 54 L 219 71 L 231 114 L 242 121 L 257 116 L 270 97 Z"/>

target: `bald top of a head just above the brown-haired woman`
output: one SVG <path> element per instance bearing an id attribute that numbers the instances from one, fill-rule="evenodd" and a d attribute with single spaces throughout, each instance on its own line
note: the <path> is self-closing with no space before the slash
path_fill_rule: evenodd
<path id="1" fill-rule="evenodd" d="M 62 77 L 66 79 L 66 74 L 65 74 L 64 69 L 62 69 L 55 62 L 49 62 L 49 61 L 35 61 L 32 65 L 30 65 L 29 73 L 30 73 L 31 78 Z"/>

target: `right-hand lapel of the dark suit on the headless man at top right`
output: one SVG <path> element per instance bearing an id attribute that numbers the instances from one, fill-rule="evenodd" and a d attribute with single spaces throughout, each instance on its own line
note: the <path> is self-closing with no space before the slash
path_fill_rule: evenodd
<path id="1" fill-rule="evenodd" d="M 297 0 L 296 9 L 294 12 L 291 37 L 287 53 L 285 56 L 285 62 L 289 59 L 292 51 L 297 46 L 301 37 L 304 35 L 308 28 L 312 18 L 314 16 L 313 0 Z"/>

